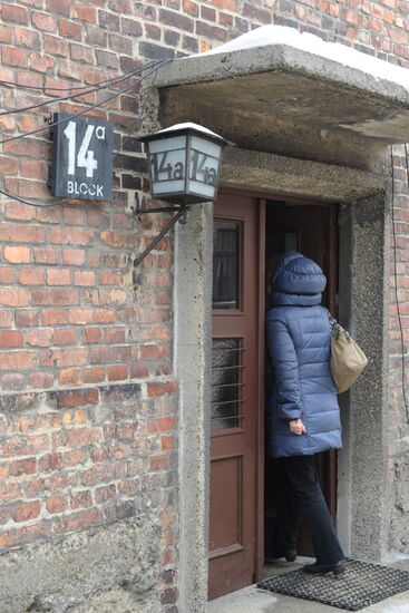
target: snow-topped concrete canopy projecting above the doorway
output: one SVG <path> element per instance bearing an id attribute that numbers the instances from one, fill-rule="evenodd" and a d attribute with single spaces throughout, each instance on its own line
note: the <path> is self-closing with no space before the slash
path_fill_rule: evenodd
<path id="1" fill-rule="evenodd" d="M 264 36 L 257 46 L 265 28 L 288 30 L 289 43 Z M 155 79 L 162 123 L 195 120 L 241 147 L 358 167 L 409 142 L 408 70 L 312 35 L 299 45 L 305 35 L 291 28 L 257 30 L 247 47 L 244 35 L 165 66 Z"/>

